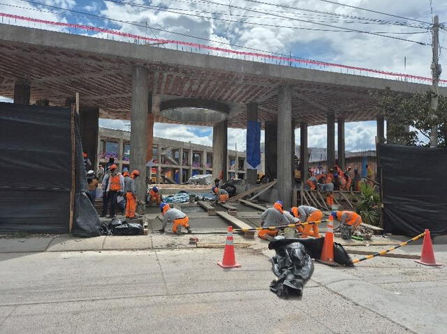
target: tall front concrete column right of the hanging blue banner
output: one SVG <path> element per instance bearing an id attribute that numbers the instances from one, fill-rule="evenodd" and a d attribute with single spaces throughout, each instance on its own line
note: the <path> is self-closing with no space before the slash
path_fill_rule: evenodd
<path id="1" fill-rule="evenodd" d="M 278 140 L 277 172 L 278 196 L 285 208 L 292 204 L 292 92 L 291 86 L 279 87 L 278 94 Z"/>

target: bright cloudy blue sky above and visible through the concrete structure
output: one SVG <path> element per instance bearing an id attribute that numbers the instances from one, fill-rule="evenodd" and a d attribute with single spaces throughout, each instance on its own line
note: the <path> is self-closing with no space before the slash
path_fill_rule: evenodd
<path id="1" fill-rule="evenodd" d="M 431 48 L 414 42 L 431 43 L 427 28 L 432 15 L 439 15 L 440 22 L 447 21 L 447 1 L 3 0 L 0 12 L 233 50 L 250 47 L 264 52 L 430 77 Z M 6 19 L 4 22 L 28 25 Z M 447 42 L 446 37 L 446 31 L 441 30 L 441 46 Z M 444 49 L 441 49 L 440 62 L 447 68 Z M 445 77 L 441 75 L 441 78 Z M 101 119 L 100 124 L 126 129 L 129 121 Z M 346 150 L 373 148 L 375 134 L 375 122 L 346 123 Z M 154 135 L 182 137 L 198 144 L 210 145 L 212 142 L 212 129 L 198 126 L 157 123 Z M 299 144 L 299 130 L 295 137 Z M 228 147 L 233 149 L 235 143 L 237 149 L 245 149 L 244 130 L 228 130 Z M 309 145 L 326 146 L 325 126 L 309 128 Z"/>

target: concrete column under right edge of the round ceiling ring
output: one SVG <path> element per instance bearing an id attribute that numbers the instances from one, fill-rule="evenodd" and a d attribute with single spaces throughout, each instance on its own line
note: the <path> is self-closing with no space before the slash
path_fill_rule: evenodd
<path id="1" fill-rule="evenodd" d="M 212 177 L 228 177 L 228 121 L 214 124 L 212 128 Z"/>

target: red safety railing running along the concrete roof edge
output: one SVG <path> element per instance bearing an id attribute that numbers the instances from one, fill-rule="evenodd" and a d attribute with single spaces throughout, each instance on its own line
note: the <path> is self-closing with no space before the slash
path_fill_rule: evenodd
<path id="1" fill-rule="evenodd" d="M 289 63 L 300 63 L 304 65 L 315 65 L 315 66 L 323 66 L 325 68 L 339 68 L 339 69 L 346 69 L 346 70 L 358 70 L 364 73 L 373 73 L 373 74 L 379 74 L 379 75 L 388 75 L 390 77 L 397 77 L 400 79 L 414 79 L 414 80 L 420 80 L 422 82 L 432 82 L 431 77 L 423 77 L 420 75 L 410 75 L 410 74 L 404 74 L 404 73 L 395 73 L 395 72 L 389 72 L 386 70 L 374 70 L 372 68 L 362 68 L 358 66 L 348 66 L 343 65 L 339 63 L 327 63 L 325 61 L 316 61 L 312 59 L 302 59 L 302 58 L 295 58 L 295 57 L 288 57 L 288 56 L 277 56 L 274 54 L 265 54 L 265 53 L 257 53 L 257 52 L 246 52 L 246 51 L 239 51 L 239 50 L 230 50 L 223 47 L 213 47 L 210 45 L 200 44 L 200 43 L 191 43 L 191 42 L 183 42 L 181 40 L 165 40 L 161 38 L 150 38 L 146 36 L 140 36 L 136 35 L 134 33 L 125 33 L 122 31 L 116 31 L 112 29 L 105 29 L 105 28 L 98 28 L 96 26 L 87 26 L 85 24 L 75 24 L 75 23 L 66 23 L 66 22 L 54 22 L 49 20 L 41 20 L 36 19 L 33 17 L 25 17 L 20 15 L 13 15 L 13 14 L 7 14 L 7 13 L 0 13 L 0 17 L 8 17 L 10 19 L 14 20 L 22 20 L 27 22 L 34 22 L 34 23 L 40 23 L 40 24 L 49 24 L 51 26 L 62 26 L 66 28 L 74 28 L 74 29 L 80 29 L 85 31 L 94 31 L 97 33 L 107 33 L 112 36 L 121 36 L 124 38 L 133 38 L 135 40 L 145 40 L 147 42 L 157 43 L 161 45 L 183 45 L 188 47 L 196 47 L 198 49 L 203 50 L 212 50 L 212 51 L 218 51 L 218 52 L 224 52 L 226 54 L 236 54 L 240 56 L 253 56 L 253 57 L 261 57 L 263 59 L 269 59 L 274 61 L 284 61 Z M 440 83 L 447 83 L 447 79 L 440 79 Z"/>

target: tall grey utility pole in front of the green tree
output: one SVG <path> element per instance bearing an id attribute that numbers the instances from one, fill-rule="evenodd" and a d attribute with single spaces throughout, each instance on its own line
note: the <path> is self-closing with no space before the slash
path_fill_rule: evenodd
<path id="1" fill-rule="evenodd" d="M 433 113 L 431 115 L 431 119 L 433 121 L 432 132 L 430 134 L 430 147 L 438 146 L 438 132 L 436 121 L 436 109 L 438 108 L 438 83 L 439 77 L 441 76 L 441 65 L 439 65 L 439 17 L 438 15 L 434 15 L 433 20 L 433 41 L 432 41 L 432 50 L 433 50 L 433 58 L 432 58 L 432 88 L 434 91 L 434 96 L 432 97 L 432 109 Z"/>

